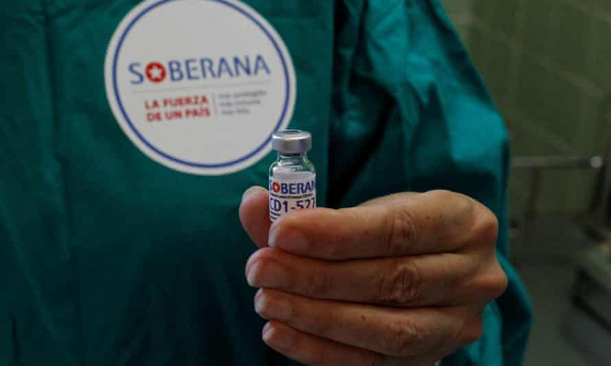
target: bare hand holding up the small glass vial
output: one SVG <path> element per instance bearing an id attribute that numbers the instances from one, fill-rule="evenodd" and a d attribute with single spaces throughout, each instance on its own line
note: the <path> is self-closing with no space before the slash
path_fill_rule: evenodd
<path id="1" fill-rule="evenodd" d="M 240 219 L 261 249 L 246 278 L 263 340 L 306 365 L 433 365 L 481 337 L 507 286 L 496 217 L 464 195 L 400 193 L 271 227 L 268 215 L 267 191 L 251 188 Z"/>

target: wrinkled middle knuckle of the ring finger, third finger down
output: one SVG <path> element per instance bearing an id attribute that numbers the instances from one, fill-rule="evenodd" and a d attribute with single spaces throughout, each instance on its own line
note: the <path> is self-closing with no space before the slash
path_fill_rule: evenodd
<path id="1" fill-rule="evenodd" d="M 412 356 L 419 352 L 427 337 L 426 330 L 417 327 L 411 319 L 402 319 L 389 325 L 382 346 L 389 356 Z"/>

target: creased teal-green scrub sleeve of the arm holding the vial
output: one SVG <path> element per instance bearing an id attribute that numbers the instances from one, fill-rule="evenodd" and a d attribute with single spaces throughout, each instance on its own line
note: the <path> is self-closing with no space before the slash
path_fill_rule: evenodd
<path id="1" fill-rule="evenodd" d="M 509 287 L 442 364 L 520 365 L 531 306 L 507 258 L 509 143 L 468 53 L 437 0 L 343 0 L 336 24 L 330 206 L 443 188 L 494 211 Z"/>

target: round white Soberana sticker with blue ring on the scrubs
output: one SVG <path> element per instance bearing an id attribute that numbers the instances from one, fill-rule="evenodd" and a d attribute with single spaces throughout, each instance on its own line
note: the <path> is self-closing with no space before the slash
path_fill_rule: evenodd
<path id="1" fill-rule="evenodd" d="M 295 107 L 290 54 L 237 0 L 147 0 L 123 19 L 106 95 L 130 140 L 185 173 L 222 175 L 266 156 Z"/>

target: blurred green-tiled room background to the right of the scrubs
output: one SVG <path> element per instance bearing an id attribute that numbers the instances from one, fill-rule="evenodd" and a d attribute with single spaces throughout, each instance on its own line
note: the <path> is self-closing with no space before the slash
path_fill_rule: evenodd
<path id="1" fill-rule="evenodd" d="M 442 2 L 511 134 L 526 365 L 611 365 L 611 0 Z"/>

